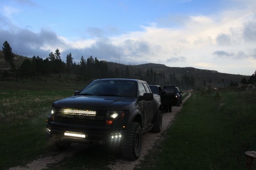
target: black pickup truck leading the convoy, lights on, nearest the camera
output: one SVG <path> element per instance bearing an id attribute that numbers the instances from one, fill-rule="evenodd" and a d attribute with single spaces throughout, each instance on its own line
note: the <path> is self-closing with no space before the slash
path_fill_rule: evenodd
<path id="1" fill-rule="evenodd" d="M 47 133 L 59 150 L 71 142 L 118 145 L 125 159 L 135 160 L 143 132 L 162 129 L 160 96 L 135 79 L 97 79 L 75 96 L 52 103 Z"/>

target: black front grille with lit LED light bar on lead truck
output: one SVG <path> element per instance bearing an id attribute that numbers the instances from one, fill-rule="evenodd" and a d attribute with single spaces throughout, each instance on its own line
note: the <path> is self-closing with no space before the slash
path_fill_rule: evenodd
<path id="1" fill-rule="evenodd" d="M 54 121 L 72 125 L 104 126 L 105 115 L 105 110 L 56 108 Z"/>

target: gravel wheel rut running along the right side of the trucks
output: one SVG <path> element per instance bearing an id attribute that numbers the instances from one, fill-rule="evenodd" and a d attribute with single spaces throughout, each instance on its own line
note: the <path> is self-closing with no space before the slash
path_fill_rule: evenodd
<path id="1" fill-rule="evenodd" d="M 186 100 L 189 99 L 190 96 L 191 93 L 189 93 L 189 95 L 186 96 L 185 99 L 183 99 L 183 103 L 186 102 Z M 117 159 L 116 164 L 109 166 L 111 170 L 133 170 L 135 165 L 139 164 L 140 160 L 143 160 L 143 157 L 148 153 L 149 150 L 152 149 L 155 142 L 162 138 L 161 133 L 163 133 L 172 124 L 175 114 L 177 114 L 181 108 L 182 104 L 180 106 L 172 107 L 172 112 L 163 114 L 162 130 L 160 133 L 148 132 L 143 135 L 142 151 L 140 157 L 137 160 L 128 161 L 122 158 Z"/>

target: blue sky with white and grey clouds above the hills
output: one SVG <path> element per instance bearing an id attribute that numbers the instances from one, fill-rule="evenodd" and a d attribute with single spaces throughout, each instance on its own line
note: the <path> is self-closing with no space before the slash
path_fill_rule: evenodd
<path id="1" fill-rule="evenodd" d="M 256 71 L 256 0 L 0 0 L 0 44 L 120 63 Z"/>

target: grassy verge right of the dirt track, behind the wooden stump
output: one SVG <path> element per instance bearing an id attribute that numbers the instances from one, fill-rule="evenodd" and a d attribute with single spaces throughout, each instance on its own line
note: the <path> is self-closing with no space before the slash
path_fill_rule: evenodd
<path id="1" fill-rule="evenodd" d="M 246 170 L 256 150 L 256 91 L 193 93 L 136 170 Z"/>

